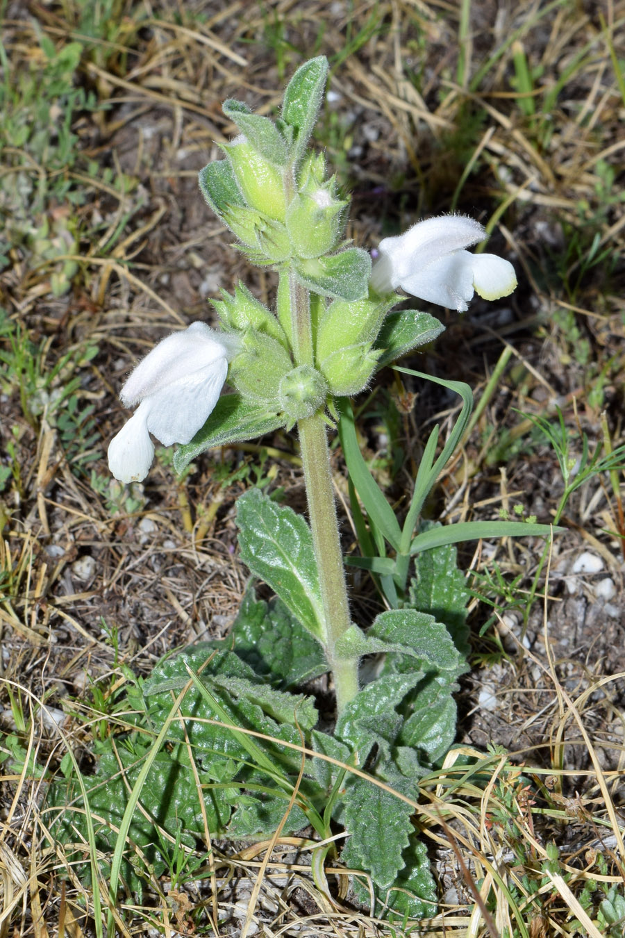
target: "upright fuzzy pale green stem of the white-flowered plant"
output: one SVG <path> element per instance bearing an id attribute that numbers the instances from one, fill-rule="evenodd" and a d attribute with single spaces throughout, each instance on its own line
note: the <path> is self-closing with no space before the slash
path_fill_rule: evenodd
<path id="1" fill-rule="evenodd" d="M 312 365 L 314 351 L 308 291 L 292 273 L 288 276 L 295 364 Z M 350 607 L 338 537 L 330 453 L 325 422 L 319 413 L 298 420 L 297 429 L 323 601 L 325 654 L 335 678 L 336 708 L 340 715 L 345 705 L 358 693 L 358 659 L 341 658 L 335 653 L 336 642 L 350 628 Z"/>

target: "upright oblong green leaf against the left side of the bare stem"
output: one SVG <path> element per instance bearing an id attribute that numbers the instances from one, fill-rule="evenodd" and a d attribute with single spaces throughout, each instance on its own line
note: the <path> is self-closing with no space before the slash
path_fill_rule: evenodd
<path id="1" fill-rule="evenodd" d="M 323 604 L 310 528 L 292 508 L 250 489 L 237 503 L 241 559 L 321 640 Z"/>

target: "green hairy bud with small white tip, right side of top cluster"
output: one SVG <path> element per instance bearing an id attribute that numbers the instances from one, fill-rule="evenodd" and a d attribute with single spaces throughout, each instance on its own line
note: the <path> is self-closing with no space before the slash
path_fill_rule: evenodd
<path id="1" fill-rule="evenodd" d="M 287 209 L 287 231 L 292 250 L 299 257 L 320 257 L 334 250 L 343 233 L 347 202 L 333 198 L 324 186 L 309 195 L 298 193 Z"/>

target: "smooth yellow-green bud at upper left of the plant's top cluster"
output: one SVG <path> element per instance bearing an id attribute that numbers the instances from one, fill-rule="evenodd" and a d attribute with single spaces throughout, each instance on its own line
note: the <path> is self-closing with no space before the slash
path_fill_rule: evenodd
<path id="1" fill-rule="evenodd" d="M 261 157 L 243 134 L 231 144 L 224 144 L 223 149 L 249 207 L 270 219 L 284 221 L 287 201 L 280 168 Z"/>

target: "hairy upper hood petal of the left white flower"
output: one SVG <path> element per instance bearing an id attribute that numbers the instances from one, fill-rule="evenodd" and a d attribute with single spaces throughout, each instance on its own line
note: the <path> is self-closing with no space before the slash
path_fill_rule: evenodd
<path id="1" fill-rule="evenodd" d="M 174 332 L 139 363 L 122 388 L 121 400 L 132 407 L 194 371 L 227 361 L 231 344 L 222 338 L 205 323 L 192 323 L 182 332 Z"/>

